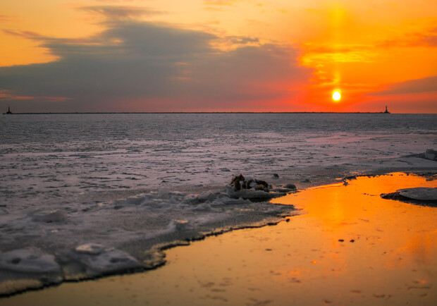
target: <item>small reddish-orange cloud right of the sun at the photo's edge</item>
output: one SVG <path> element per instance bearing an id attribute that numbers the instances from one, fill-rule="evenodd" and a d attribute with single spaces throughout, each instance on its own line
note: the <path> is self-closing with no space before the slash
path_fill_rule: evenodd
<path id="1" fill-rule="evenodd" d="M 375 92 L 374 94 L 414 94 L 419 92 L 437 92 L 437 75 L 390 84 L 387 90 Z"/>

